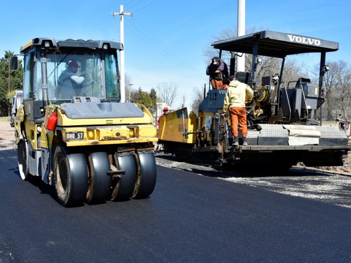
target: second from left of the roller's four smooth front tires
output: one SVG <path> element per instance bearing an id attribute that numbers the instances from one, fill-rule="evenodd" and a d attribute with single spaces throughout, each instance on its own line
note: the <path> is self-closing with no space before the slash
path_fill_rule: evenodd
<path id="1" fill-rule="evenodd" d="M 111 176 L 110 161 L 106 152 L 90 153 L 88 157 L 88 189 L 86 193 L 87 203 L 99 203 L 106 201 L 110 194 Z"/>

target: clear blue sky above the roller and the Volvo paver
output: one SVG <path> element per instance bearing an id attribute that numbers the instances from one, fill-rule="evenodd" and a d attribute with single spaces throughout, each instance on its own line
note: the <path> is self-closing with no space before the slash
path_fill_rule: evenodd
<path id="1" fill-rule="evenodd" d="M 237 27 L 237 0 L 61 0 L 3 1 L 0 10 L 0 57 L 19 52 L 35 37 L 120 41 L 119 12 L 125 16 L 125 72 L 134 89 L 149 92 L 158 83 L 179 86 L 178 107 L 196 87 L 208 83 L 203 49 L 225 28 Z M 246 1 L 246 28 L 293 33 L 339 42 L 327 61 L 349 62 L 350 0 Z M 207 84 L 208 86 L 208 84 Z"/>

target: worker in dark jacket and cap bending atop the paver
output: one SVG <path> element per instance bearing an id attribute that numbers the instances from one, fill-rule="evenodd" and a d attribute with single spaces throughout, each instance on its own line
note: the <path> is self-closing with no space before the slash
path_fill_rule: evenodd
<path id="1" fill-rule="evenodd" d="M 206 69 L 214 90 L 223 89 L 223 79 L 229 78 L 228 66 L 218 56 L 213 57 L 211 64 Z"/>

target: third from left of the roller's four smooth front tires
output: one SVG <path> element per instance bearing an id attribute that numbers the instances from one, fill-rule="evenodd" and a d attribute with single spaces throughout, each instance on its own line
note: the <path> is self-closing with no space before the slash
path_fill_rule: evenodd
<path id="1" fill-rule="evenodd" d="M 113 162 L 117 169 L 125 172 L 121 179 L 112 179 L 111 200 L 128 199 L 133 195 L 137 179 L 134 152 L 115 152 Z"/>

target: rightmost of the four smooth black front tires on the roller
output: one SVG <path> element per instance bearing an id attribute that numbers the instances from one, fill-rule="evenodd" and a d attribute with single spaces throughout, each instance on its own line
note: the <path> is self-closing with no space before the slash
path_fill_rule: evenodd
<path id="1" fill-rule="evenodd" d="M 156 160 L 154 151 L 137 152 L 138 178 L 133 197 L 146 198 L 152 194 L 156 185 Z"/>

